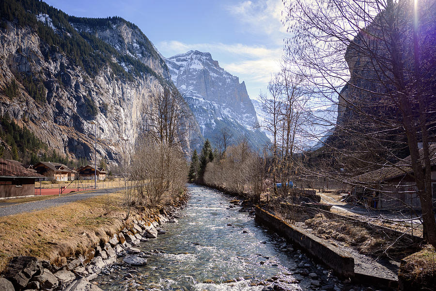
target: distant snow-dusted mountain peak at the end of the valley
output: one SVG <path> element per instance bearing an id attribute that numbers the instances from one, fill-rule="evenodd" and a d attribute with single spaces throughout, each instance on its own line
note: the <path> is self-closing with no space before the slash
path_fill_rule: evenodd
<path id="1" fill-rule="evenodd" d="M 258 120 L 245 83 L 221 68 L 210 53 L 190 50 L 166 59 L 166 63 L 204 138 L 214 143 L 218 131 L 228 128 L 235 139 L 246 135 L 252 146 L 269 142 L 265 133 L 255 128 Z"/>

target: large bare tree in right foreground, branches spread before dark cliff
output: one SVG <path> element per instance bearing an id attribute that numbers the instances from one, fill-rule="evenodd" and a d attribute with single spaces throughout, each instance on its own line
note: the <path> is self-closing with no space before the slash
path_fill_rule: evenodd
<path id="1" fill-rule="evenodd" d="M 286 23 L 293 35 L 287 62 L 303 78 L 307 94 L 339 105 L 335 133 L 321 155 L 334 167 L 323 175 L 358 184 L 356 174 L 390 167 L 413 179 L 424 238 L 433 246 L 435 5 L 432 0 L 286 4 Z M 306 168 L 317 174 L 315 168 Z"/>

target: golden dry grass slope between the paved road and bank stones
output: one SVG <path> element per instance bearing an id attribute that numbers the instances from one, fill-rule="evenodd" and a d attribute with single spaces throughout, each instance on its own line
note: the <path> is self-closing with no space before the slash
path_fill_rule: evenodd
<path id="1" fill-rule="evenodd" d="M 110 200 L 110 205 L 108 205 Z M 64 263 L 108 241 L 123 226 L 122 194 L 113 193 L 46 210 L 0 218 L 0 271 L 13 256 Z"/>

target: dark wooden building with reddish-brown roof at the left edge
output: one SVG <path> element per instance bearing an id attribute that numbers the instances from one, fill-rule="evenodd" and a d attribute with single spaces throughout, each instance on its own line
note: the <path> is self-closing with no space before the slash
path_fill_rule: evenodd
<path id="1" fill-rule="evenodd" d="M 41 179 L 44 176 L 19 162 L 0 159 L 0 199 L 33 196 L 35 181 Z"/>

